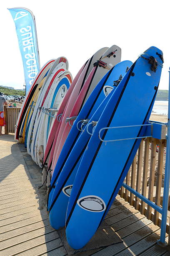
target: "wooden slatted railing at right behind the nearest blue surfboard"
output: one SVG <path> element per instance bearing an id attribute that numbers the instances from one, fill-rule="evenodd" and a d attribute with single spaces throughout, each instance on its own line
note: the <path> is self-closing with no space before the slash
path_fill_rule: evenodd
<path id="1" fill-rule="evenodd" d="M 160 207 L 162 207 L 163 202 L 165 156 L 166 140 L 155 138 L 142 140 L 124 181 L 125 184 Z M 130 205 L 133 205 L 136 210 L 139 210 L 141 214 L 152 220 L 155 225 L 161 226 L 161 214 L 150 205 L 147 205 L 123 186 L 119 190 L 119 195 Z M 169 233 L 169 221 L 166 232 Z"/>

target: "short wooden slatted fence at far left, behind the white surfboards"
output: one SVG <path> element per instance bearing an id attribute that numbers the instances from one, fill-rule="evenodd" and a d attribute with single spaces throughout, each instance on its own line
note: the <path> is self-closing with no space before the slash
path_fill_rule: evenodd
<path id="1" fill-rule="evenodd" d="M 9 108 L 4 106 L 5 115 L 5 134 L 15 133 L 15 124 L 17 123 L 18 115 L 21 108 Z"/>

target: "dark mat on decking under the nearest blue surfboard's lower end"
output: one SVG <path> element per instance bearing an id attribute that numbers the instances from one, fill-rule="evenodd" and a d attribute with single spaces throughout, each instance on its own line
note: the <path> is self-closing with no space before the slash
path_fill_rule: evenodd
<path id="1" fill-rule="evenodd" d="M 97 252 L 97 249 L 123 242 L 122 239 L 105 221 L 102 222 L 92 239 L 84 247 L 78 250 L 75 250 L 69 246 L 65 235 L 65 228 L 57 230 L 57 233 L 60 236 L 68 255 L 74 256 L 81 255 L 82 252 L 85 251 L 88 251 L 89 255 L 91 255 L 91 253 Z"/>

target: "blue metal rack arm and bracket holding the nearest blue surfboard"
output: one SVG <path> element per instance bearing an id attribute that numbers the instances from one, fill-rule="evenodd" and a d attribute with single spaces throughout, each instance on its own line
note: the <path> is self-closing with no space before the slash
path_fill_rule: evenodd
<path id="1" fill-rule="evenodd" d="M 100 136 L 100 133 L 103 130 L 116 129 L 116 128 L 119 129 L 119 128 L 129 128 L 129 127 L 141 127 L 141 126 L 146 126 L 146 131 L 145 131 L 145 135 L 140 136 L 140 137 L 122 138 L 122 139 L 115 139 L 115 140 L 103 140 Z M 99 139 L 100 139 L 100 141 L 105 142 L 105 144 L 107 142 L 112 142 L 112 141 L 125 141 L 125 140 L 133 140 L 133 139 L 141 139 L 141 138 L 149 138 L 149 137 L 158 138 L 158 139 L 166 139 L 166 127 L 167 127 L 167 124 L 154 122 L 154 121 L 151 121 L 148 124 L 142 124 L 142 125 L 104 127 L 102 129 L 100 129 L 100 131 L 99 131 Z"/>

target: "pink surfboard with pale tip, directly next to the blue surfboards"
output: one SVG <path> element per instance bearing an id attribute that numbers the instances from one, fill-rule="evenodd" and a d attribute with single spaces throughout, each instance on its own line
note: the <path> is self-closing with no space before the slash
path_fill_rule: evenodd
<path id="1" fill-rule="evenodd" d="M 121 60 L 121 49 L 115 45 L 110 47 L 105 52 L 105 54 L 102 55 L 100 62 L 98 64 L 96 63 L 95 67 L 90 72 L 85 84 L 83 85 L 83 88 L 82 88 L 80 94 L 77 97 L 77 100 L 75 101 L 74 106 L 72 107 L 70 115 L 68 115 L 68 118 L 77 116 L 77 114 L 81 110 L 82 106 L 86 102 L 87 98 L 89 97 L 90 93 L 95 88 L 95 86 L 100 81 L 100 79 L 102 79 L 102 77 L 108 72 L 109 69 L 114 67 L 117 63 L 119 63 L 120 60 Z M 60 156 L 60 152 L 61 152 L 62 147 L 65 143 L 65 140 L 67 138 L 67 135 L 71 130 L 72 122 L 73 121 L 70 120 L 70 122 L 67 122 L 65 124 L 65 128 L 62 131 L 62 136 L 60 138 L 60 142 L 56 143 L 55 152 L 54 152 L 55 158 L 53 158 L 52 169 L 55 168 L 58 157 Z M 58 141 L 59 141 L 59 136 L 58 136 Z"/>

